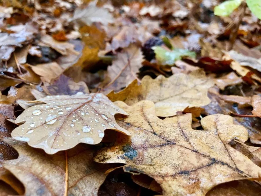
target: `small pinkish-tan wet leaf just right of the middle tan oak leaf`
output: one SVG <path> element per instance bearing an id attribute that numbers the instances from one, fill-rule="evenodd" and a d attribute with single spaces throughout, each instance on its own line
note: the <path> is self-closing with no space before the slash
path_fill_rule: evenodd
<path id="1" fill-rule="evenodd" d="M 231 72 L 220 78 L 214 79 L 214 81 L 218 88 L 221 90 L 224 90 L 227 86 L 240 84 L 243 82 L 243 80 L 240 77 L 238 77 L 238 75 L 236 75 L 234 72 Z"/>

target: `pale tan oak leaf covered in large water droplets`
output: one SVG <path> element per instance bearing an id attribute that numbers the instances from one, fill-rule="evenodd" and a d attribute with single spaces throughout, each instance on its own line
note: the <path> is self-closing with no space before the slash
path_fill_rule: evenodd
<path id="1" fill-rule="evenodd" d="M 100 143 L 106 129 L 129 135 L 114 118 L 115 114 L 128 114 L 102 93 L 46 96 L 34 102 L 46 104 L 32 106 L 18 116 L 15 123 L 25 123 L 11 135 L 48 154 L 78 143 Z"/>

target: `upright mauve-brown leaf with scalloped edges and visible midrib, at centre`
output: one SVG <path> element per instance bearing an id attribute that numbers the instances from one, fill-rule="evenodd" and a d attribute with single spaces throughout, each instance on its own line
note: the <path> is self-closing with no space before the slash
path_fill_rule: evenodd
<path id="1" fill-rule="evenodd" d="M 140 48 L 131 45 L 125 48 L 122 53 L 117 54 L 117 59 L 112 66 L 108 67 L 110 83 L 103 84 L 105 93 L 112 90 L 120 90 L 135 80 L 136 73 L 142 67 L 143 55 Z"/>

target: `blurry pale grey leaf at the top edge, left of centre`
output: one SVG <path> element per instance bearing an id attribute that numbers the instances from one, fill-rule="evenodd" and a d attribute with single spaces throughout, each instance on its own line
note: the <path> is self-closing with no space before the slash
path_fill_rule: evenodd
<path id="1" fill-rule="evenodd" d="M 86 8 L 77 8 L 74 12 L 73 18 L 70 19 L 70 21 L 80 19 L 88 26 L 92 25 L 94 22 L 100 22 L 103 25 L 113 23 L 114 18 L 108 10 L 97 7 L 96 3 L 97 0 L 91 1 Z"/>

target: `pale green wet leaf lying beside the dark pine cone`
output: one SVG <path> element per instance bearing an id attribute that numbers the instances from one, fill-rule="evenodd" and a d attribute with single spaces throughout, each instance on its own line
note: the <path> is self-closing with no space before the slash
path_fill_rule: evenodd
<path id="1" fill-rule="evenodd" d="M 173 65 L 177 60 L 181 60 L 183 56 L 196 57 L 195 52 L 186 49 L 174 48 L 172 51 L 160 46 L 153 46 L 156 60 L 162 65 Z"/>

